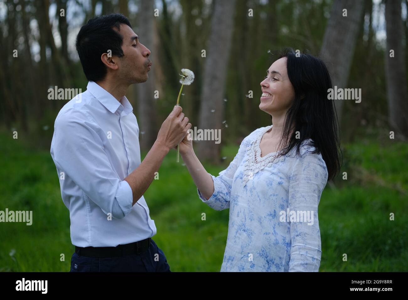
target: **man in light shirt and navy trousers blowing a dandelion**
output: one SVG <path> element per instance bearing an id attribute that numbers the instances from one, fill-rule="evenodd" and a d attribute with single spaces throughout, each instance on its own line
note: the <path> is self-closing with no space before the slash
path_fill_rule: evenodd
<path id="1" fill-rule="evenodd" d="M 125 94 L 148 79 L 149 49 L 121 14 L 89 20 L 76 49 L 89 83 L 58 113 L 51 142 L 71 219 L 71 271 L 170 271 L 151 239 L 156 227 L 143 193 L 191 124 L 174 107 L 140 162 L 139 127 Z"/>

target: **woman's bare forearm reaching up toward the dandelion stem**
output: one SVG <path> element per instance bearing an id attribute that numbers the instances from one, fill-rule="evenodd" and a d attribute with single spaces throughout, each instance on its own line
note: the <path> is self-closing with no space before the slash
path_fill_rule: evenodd
<path id="1" fill-rule="evenodd" d="M 206 200 L 210 199 L 214 193 L 213 178 L 204 169 L 192 148 L 187 153 L 181 153 L 181 155 L 198 190 Z"/>

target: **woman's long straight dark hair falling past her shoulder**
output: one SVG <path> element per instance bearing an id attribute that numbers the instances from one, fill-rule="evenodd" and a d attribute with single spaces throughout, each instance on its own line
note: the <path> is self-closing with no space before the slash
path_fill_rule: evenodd
<path id="1" fill-rule="evenodd" d="M 322 153 L 326 163 L 328 180 L 340 171 L 340 142 L 338 138 L 337 113 L 333 100 L 327 97 L 332 88 L 329 71 L 324 62 L 310 55 L 308 51 L 296 53 L 292 48 L 285 48 L 279 58 L 286 57 L 286 68 L 290 83 L 295 89 L 295 99 L 286 112 L 279 149 L 280 156 L 286 155 L 293 147 L 300 155 L 300 146 L 307 139 L 312 139 L 312 153 Z M 278 58 L 278 59 L 279 59 Z M 296 138 L 299 131 L 300 138 Z"/>

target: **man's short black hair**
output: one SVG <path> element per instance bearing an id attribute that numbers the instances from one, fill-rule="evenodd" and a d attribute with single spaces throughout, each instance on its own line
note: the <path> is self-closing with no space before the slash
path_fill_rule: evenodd
<path id="1" fill-rule="evenodd" d="M 101 60 L 103 53 L 111 50 L 112 56 L 122 57 L 124 55 L 123 37 L 119 33 L 120 24 L 132 27 L 129 19 L 121 13 L 95 17 L 81 27 L 75 46 L 82 69 L 89 81 L 99 81 L 105 78 L 106 66 Z"/>

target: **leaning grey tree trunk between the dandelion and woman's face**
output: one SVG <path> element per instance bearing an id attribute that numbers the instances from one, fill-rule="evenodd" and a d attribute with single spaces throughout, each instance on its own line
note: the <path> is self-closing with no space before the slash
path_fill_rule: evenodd
<path id="1" fill-rule="evenodd" d="M 222 129 L 224 117 L 224 91 L 226 71 L 230 56 L 235 0 L 216 0 L 211 33 L 206 47 L 204 76 L 201 92 L 199 129 Z M 222 134 L 225 130 L 222 130 Z M 222 139 L 222 138 L 221 138 Z M 220 161 L 220 144 L 214 141 L 198 142 L 201 159 L 217 163 Z"/>

